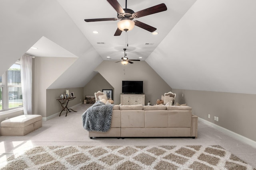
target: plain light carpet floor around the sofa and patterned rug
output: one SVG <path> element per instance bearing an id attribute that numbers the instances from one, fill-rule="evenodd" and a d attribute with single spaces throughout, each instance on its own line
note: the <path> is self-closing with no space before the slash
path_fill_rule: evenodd
<path id="1" fill-rule="evenodd" d="M 81 118 L 82 113 L 90 106 L 90 104 L 79 104 L 72 107 L 78 112 L 69 112 L 67 117 L 65 117 L 65 114 L 60 117 L 57 115 L 48 121 L 43 121 L 41 128 L 25 136 L 0 136 L 0 164 L 6 164 L 7 160 L 13 158 L 13 154 L 18 155 L 23 150 L 42 146 L 131 146 L 132 148 L 134 146 L 148 146 L 148 148 L 177 146 L 176 148 L 178 149 L 178 147 L 188 145 L 201 145 L 203 147 L 219 145 L 250 164 L 253 168 L 256 168 L 256 148 L 225 135 L 200 121 L 198 122 L 198 137 L 196 139 L 172 137 L 90 139 L 88 131 L 82 127 Z M 175 163 L 173 164 L 176 165 Z M 225 164 L 222 164 L 222 166 L 221 169 L 224 169 Z"/>

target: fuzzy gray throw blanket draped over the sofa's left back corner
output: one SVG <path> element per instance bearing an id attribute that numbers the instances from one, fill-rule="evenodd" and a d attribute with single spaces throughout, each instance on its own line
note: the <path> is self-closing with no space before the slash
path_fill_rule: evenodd
<path id="1" fill-rule="evenodd" d="M 112 104 L 97 101 L 82 114 L 84 129 L 98 132 L 108 131 L 111 125 L 112 110 Z"/>

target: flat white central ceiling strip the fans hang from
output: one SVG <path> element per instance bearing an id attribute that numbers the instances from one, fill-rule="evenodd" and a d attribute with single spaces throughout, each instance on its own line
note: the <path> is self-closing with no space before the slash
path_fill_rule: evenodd
<path id="1" fill-rule="evenodd" d="M 134 12 L 161 3 L 166 4 L 167 7 L 166 11 L 134 19 L 156 27 L 156 31 L 159 34 L 152 35 L 151 32 L 137 26 L 131 31 L 128 31 L 127 43 L 129 46 L 127 47 L 127 57 L 129 59 L 142 57 L 142 60 L 145 60 L 195 1 L 196 0 L 127 0 L 127 8 L 132 9 Z M 114 36 L 118 21 L 84 21 L 84 19 L 91 18 L 116 18 L 117 12 L 107 0 L 58 0 L 58 2 L 90 41 L 103 60 L 106 60 L 106 57 L 118 60 L 124 57 L 123 49 L 126 43 L 126 33 L 123 31 L 120 36 Z M 122 8 L 125 8 L 125 2 L 126 0 L 118 0 Z M 99 33 L 93 34 L 93 31 L 98 31 Z M 152 45 L 145 45 L 146 43 Z"/>

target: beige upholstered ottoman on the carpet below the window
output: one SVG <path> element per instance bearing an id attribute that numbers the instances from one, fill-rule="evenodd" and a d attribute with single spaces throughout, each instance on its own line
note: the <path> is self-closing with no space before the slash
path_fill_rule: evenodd
<path id="1" fill-rule="evenodd" d="M 20 115 L 7 119 L 0 124 L 0 135 L 23 136 L 42 127 L 41 115 Z"/>

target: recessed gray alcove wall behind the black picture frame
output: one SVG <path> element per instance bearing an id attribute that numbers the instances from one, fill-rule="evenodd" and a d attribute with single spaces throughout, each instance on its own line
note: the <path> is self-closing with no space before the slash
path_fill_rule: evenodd
<path id="1" fill-rule="evenodd" d="M 84 99 L 86 95 L 94 95 L 95 92 L 101 91 L 103 89 L 112 89 L 112 96 L 114 96 L 114 88 L 108 81 L 102 77 L 100 73 L 97 73 L 90 82 L 84 86 Z M 114 100 L 114 98 L 112 98 Z"/>

